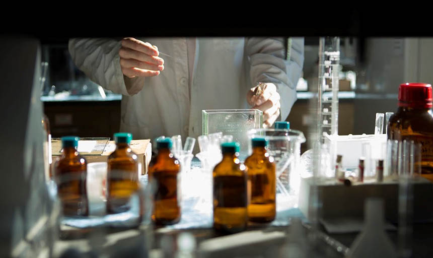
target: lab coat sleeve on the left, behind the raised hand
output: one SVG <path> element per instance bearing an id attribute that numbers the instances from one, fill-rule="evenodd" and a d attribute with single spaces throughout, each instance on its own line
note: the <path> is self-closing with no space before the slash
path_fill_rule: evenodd
<path id="1" fill-rule="evenodd" d="M 93 82 L 114 93 L 130 96 L 144 86 L 144 78 L 129 79 L 120 68 L 120 41 L 107 38 L 69 39 L 69 53 L 81 71 Z"/>

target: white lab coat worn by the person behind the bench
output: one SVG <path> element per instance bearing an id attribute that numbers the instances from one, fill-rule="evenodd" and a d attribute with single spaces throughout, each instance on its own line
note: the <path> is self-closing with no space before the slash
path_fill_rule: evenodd
<path id="1" fill-rule="evenodd" d="M 123 95 L 120 131 L 132 133 L 134 139 L 198 137 L 201 110 L 250 108 L 246 94 L 258 82 L 277 86 L 282 119 L 296 101 L 296 84 L 304 63 L 303 38 L 292 40 L 290 60 L 285 60 L 282 38 L 197 38 L 192 78 L 186 38 L 138 39 L 173 57 L 160 55 L 165 68 L 159 76 L 124 77 L 119 40 L 69 40 L 77 67 L 95 83 Z"/>

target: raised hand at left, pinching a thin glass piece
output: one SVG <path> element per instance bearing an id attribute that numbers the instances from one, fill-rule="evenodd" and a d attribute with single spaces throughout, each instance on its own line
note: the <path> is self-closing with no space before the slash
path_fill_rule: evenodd
<path id="1" fill-rule="evenodd" d="M 120 68 L 128 78 L 157 76 L 164 70 L 157 46 L 135 38 L 124 38 L 121 44 Z"/>

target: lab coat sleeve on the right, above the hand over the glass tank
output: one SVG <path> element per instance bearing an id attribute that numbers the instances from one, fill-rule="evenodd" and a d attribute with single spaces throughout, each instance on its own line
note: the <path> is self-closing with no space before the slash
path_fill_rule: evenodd
<path id="1" fill-rule="evenodd" d="M 297 100 L 296 85 L 304 65 L 304 38 L 293 38 L 286 60 L 284 38 L 247 38 L 245 51 L 250 62 L 250 80 L 273 83 L 280 94 L 280 112 L 285 120 Z"/>

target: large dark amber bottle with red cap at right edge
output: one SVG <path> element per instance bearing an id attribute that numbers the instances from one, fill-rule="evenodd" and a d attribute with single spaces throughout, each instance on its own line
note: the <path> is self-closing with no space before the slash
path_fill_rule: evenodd
<path id="1" fill-rule="evenodd" d="M 421 175 L 433 181 L 433 113 L 431 85 L 401 84 L 398 110 L 389 119 L 388 139 L 421 143 Z M 393 171 L 396 172 L 396 171 Z"/>

